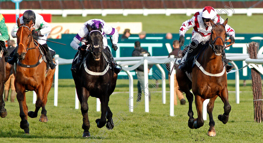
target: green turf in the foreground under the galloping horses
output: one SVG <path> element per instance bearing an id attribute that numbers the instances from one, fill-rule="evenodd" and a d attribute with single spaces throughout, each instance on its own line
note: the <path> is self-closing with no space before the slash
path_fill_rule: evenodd
<path id="1" fill-rule="evenodd" d="M 136 95 L 136 83 L 134 80 L 134 96 Z M 121 114 L 119 124 L 112 131 L 104 128 L 97 128 L 95 120 L 100 117 L 101 112 L 96 112 L 96 99 L 91 97 L 89 104 L 90 133 L 97 135 L 97 142 L 102 143 L 148 143 L 148 142 L 263 142 L 262 123 L 254 122 L 253 95 L 251 81 L 243 87 L 240 80 L 240 104 L 235 103 L 235 81 L 229 80 L 229 103 L 232 110 L 229 122 L 223 124 L 217 119 L 223 113 L 223 102 L 218 98 L 214 106 L 214 121 L 216 137 L 206 135 L 209 129 L 209 121 L 199 129 L 189 129 L 188 102 L 186 105 L 174 107 L 174 117 L 169 116 L 169 93 L 166 93 L 166 104 L 162 104 L 161 86 L 158 91 L 151 94 L 149 113 L 144 112 L 144 101 L 138 103 L 134 112 L 129 112 L 126 101 L 128 80 L 118 79 L 115 94 L 110 97 L 109 107 L 113 117 L 123 111 L 127 116 Z M 167 91 L 168 91 L 168 84 Z M 49 121 L 39 122 L 40 111 L 37 118 L 28 118 L 30 124 L 30 135 L 23 135 L 20 129 L 20 117 L 18 102 L 6 102 L 8 115 L 0 119 L 0 140 L 1 142 L 63 142 L 63 143 L 84 143 L 88 138 L 82 138 L 82 115 L 80 109 L 75 109 L 75 84 L 72 79 L 59 79 L 58 106 L 54 106 L 54 88 L 50 90 L 47 102 L 47 116 Z M 27 105 L 29 110 L 34 110 L 32 104 L 32 92 L 27 93 Z M 185 96 L 185 95 L 184 95 Z M 135 101 L 134 104 L 137 102 Z M 178 102 L 179 104 L 179 102 Z M 197 117 L 193 103 L 194 117 Z M 106 138 L 101 139 L 99 133 L 104 130 Z M 90 138 L 92 139 L 92 138 Z M 96 142 L 90 140 L 88 142 Z"/>

